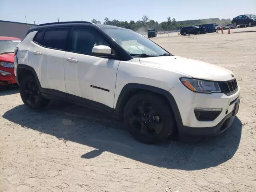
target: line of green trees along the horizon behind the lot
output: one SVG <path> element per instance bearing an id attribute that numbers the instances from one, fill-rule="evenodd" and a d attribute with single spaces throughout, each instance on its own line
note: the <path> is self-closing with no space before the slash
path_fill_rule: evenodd
<path id="1" fill-rule="evenodd" d="M 92 20 L 95 24 L 101 24 L 100 21 L 96 19 Z M 191 25 L 200 25 L 200 24 L 208 24 L 208 23 L 216 23 L 219 25 L 224 25 L 231 23 L 230 19 L 222 19 L 219 18 L 211 18 L 211 19 L 200 19 L 200 20 L 186 20 L 186 21 L 176 21 L 175 18 L 168 17 L 166 21 L 158 23 L 157 21 L 149 19 L 147 15 L 142 17 L 142 20 L 130 22 L 127 21 L 119 21 L 119 20 L 109 20 L 107 17 L 104 19 L 104 23 L 106 25 L 114 25 L 122 28 L 131 29 L 134 31 L 146 31 L 148 29 L 157 29 L 157 30 L 179 30 L 181 27 L 184 26 L 191 26 Z"/>

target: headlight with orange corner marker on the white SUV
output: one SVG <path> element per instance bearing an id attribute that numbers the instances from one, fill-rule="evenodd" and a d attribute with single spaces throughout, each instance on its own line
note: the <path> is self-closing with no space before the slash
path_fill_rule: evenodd
<path id="1" fill-rule="evenodd" d="M 190 90 L 199 93 L 221 92 L 217 82 L 200 79 L 180 78 L 180 81 Z"/>

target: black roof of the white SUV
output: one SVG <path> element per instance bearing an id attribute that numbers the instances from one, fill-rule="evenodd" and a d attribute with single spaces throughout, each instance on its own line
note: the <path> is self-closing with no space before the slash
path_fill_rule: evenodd
<path id="1" fill-rule="evenodd" d="M 30 28 L 28 30 L 28 33 L 31 31 L 40 30 L 40 29 L 44 29 L 44 28 L 50 28 L 50 27 L 72 27 L 72 26 L 84 26 L 84 25 L 87 25 L 87 26 L 90 25 L 90 26 L 95 26 L 95 27 L 99 27 L 99 28 L 115 28 L 115 29 L 128 30 L 126 28 L 121 28 L 121 27 L 112 26 L 112 25 L 94 24 L 94 23 L 88 22 L 88 21 L 66 21 L 66 22 L 40 24 L 36 27 Z"/>

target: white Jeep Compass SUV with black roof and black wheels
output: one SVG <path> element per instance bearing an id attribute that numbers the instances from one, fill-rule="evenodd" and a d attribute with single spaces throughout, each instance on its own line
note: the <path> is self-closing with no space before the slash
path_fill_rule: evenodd
<path id="1" fill-rule="evenodd" d="M 128 29 L 58 22 L 29 29 L 15 50 L 15 76 L 29 108 L 60 98 L 122 118 L 132 136 L 155 143 L 224 132 L 240 88 L 224 68 L 173 56 Z"/>

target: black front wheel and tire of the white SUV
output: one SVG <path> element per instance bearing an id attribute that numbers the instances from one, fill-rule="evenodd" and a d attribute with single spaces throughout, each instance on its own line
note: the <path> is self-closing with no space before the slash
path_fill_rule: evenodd
<path id="1" fill-rule="evenodd" d="M 176 125 L 169 105 L 157 94 L 149 93 L 140 93 L 128 100 L 124 123 L 135 139 L 146 144 L 166 140 Z"/>

